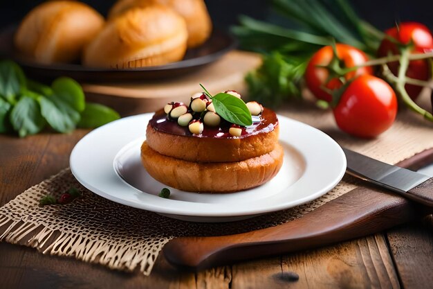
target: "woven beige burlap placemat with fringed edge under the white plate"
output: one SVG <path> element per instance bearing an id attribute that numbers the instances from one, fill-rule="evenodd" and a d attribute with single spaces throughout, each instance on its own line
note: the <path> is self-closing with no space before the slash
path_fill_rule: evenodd
<path id="1" fill-rule="evenodd" d="M 400 112 L 393 127 L 372 140 L 340 132 L 330 112 L 312 105 L 285 107 L 280 113 L 319 128 L 342 146 L 391 164 L 433 147 L 432 123 L 411 112 Z M 59 196 L 71 186 L 80 189 L 81 198 L 70 204 L 39 206 L 43 195 Z M 80 186 L 71 171 L 65 169 L 0 208 L 0 240 L 117 270 L 138 268 L 149 275 L 158 253 L 172 238 L 234 234 L 278 225 L 300 218 L 355 187 L 352 179 L 345 178 L 322 198 L 293 209 L 238 222 L 205 224 L 174 220 L 105 200 Z"/>

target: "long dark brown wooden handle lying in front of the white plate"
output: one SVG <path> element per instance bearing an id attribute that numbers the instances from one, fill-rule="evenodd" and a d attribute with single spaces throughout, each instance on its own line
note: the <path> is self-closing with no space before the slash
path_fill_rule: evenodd
<path id="1" fill-rule="evenodd" d="M 357 188 L 276 227 L 230 236 L 176 238 L 165 245 L 164 254 L 172 265 L 200 270 L 373 234 L 425 216 L 429 209 L 385 191 Z"/>

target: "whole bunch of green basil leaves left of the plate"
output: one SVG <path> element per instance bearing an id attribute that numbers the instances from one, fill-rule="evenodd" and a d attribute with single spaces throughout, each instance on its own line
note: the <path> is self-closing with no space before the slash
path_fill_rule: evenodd
<path id="1" fill-rule="evenodd" d="M 47 124 L 57 132 L 71 132 L 119 118 L 109 107 L 86 103 L 82 87 L 71 78 L 57 78 L 49 87 L 27 79 L 15 62 L 0 61 L 0 133 L 26 137 Z"/>

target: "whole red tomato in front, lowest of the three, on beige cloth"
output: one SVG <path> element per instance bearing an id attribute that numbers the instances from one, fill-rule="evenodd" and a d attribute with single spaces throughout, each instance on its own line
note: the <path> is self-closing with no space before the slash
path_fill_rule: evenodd
<path id="1" fill-rule="evenodd" d="M 349 84 L 333 114 L 344 132 L 356 137 L 376 137 L 396 119 L 396 94 L 384 80 L 365 74 Z"/>

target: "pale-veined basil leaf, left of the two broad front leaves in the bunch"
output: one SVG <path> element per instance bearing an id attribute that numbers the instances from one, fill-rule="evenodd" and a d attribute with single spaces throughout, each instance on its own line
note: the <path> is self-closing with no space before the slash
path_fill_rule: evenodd
<path id="1" fill-rule="evenodd" d="M 26 137 L 28 134 L 40 132 L 44 128 L 45 120 L 37 101 L 24 96 L 10 112 L 10 123 L 19 137 Z"/>

